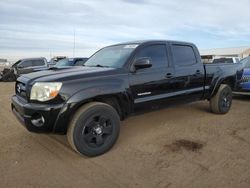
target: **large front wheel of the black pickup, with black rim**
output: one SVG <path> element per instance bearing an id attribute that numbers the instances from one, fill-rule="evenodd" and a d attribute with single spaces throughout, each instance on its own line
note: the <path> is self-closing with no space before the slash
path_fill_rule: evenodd
<path id="1" fill-rule="evenodd" d="M 90 102 L 82 106 L 70 121 L 67 137 L 80 154 L 94 157 L 109 151 L 120 133 L 120 117 L 110 105 Z"/>

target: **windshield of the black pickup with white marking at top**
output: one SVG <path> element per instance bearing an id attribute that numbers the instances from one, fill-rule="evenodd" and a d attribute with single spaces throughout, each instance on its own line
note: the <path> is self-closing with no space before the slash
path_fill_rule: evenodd
<path id="1" fill-rule="evenodd" d="M 121 68 L 137 44 L 109 46 L 96 52 L 84 64 L 89 67 Z"/>

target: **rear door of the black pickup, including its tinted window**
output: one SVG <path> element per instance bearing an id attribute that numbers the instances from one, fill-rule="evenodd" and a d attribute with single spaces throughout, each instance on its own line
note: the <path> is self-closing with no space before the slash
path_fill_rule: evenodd
<path id="1" fill-rule="evenodd" d="M 171 42 L 172 61 L 175 68 L 176 94 L 187 99 L 200 99 L 204 92 L 205 71 L 195 46 Z"/>

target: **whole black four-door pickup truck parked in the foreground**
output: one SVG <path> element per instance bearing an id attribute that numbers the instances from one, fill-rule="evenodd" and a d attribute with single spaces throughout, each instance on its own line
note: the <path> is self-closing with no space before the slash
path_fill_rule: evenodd
<path id="1" fill-rule="evenodd" d="M 29 131 L 67 134 L 77 152 L 97 156 L 115 144 L 120 119 L 142 105 L 207 99 L 212 112 L 227 113 L 238 71 L 203 65 L 192 43 L 129 42 L 102 48 L 82 67 L 19 77 L 11 108 Z"/>

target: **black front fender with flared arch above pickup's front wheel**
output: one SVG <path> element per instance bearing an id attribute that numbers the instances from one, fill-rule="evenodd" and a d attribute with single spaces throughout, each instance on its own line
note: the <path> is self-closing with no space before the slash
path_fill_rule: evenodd
<path id="1" fill-rule="evenodd" d="M 67 83 L 66 87 L 68 90 L 64 90 L 68 94 L 68 98 L 65 97 L 66 101 L 63 108 L 57 117 L 56 124 L 54 126 L 54 132 L 65 133 L 67 131 L 68 122 L 73 116 L 74 112 L 84 103 L 93 100 L 99 96 L 115 95 L 124 96 L 128 93 L 128 83 L 126 79 L 103 79 L 103 80 L 91 80 L 81 81 L 74 83 Z M 71 87 L 69 87 L 71 86 Z"/>

